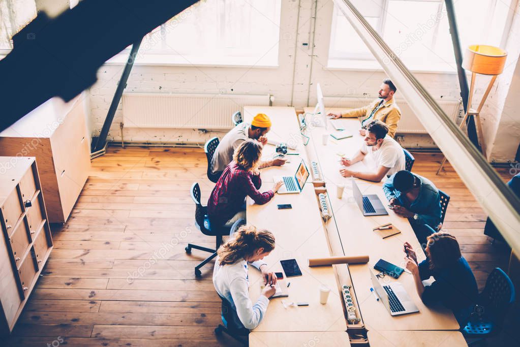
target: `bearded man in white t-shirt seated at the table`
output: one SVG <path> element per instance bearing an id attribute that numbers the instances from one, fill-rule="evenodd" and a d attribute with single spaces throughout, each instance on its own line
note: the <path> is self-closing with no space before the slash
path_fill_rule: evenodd
<path id="1" fill-rule="evenodd" d="M 367 181 L 380 182 L 385 176 L 391 176 L 405 169 L 405 152 L 396 140 L 389 137 L 388 126 L 375 119 L 367 125 L 365 143 L 354 157 L 341 158 L 343 166 L 350 166 L 362 161 L 366 155 L 374 159 L 375 171 L 354 171 L 348 168 L 340 169 L 343 177 L 356 177 Z"/>

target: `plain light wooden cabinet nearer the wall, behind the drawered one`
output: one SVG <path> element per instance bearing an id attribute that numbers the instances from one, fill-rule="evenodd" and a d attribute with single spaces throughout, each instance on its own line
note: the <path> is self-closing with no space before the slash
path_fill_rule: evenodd
<path id="1" fill-rule="evenodd" d="M 83 189 L 90 171 L 89 139 L 84 94 L 68 103 L 50 99 L 0 132 L 0 155 L 16 156 L 16 161 L 36 157 L 49 223 L 66 222 Z M 32 177 L 23 178 L 23 202 L 35 189 Z M 32 213 L 29 216 L 32 222 Z"/>

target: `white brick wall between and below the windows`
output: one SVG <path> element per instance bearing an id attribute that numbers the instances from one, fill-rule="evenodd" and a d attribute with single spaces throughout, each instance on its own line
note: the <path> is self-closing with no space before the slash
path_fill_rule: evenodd
<path id="1" fill-rule="evenodd" d="M 376 96 L 385 77 L 382 71 L 329 70 L 330 26 L 333 2 L 318 1 L 315 35 L 315 61 L 310 71 L 310 48 L 313 1 L 301 0 L 299 28 L 296 28 L 298 2 L 282 0 L 280 23 L 280 52 L 278 68 L 204 67 L 204 66 L 143 66 L 134 65 L 128 78 L 127 91 L 164 91 L 193 93 L 272 94 L 274 105 L 303 108 L 316 102 L 315 84 L 319 82 L 326 96 Z M 296 56 L 294 56 L 296 45 Z M 309 43 L 310 46 L 310 43 Z M 98 82 L 90 88 L 90 130 L 97 136 L 105 120 L 123 65 L 105 65 L 98 71 Z M 293 87 L 294 71 L 294 87 Z M 419 81 L 435 98 L 457 98 L 457 74 L 418 73 Z M 310 85 L 309 85 L 310 78 Z M 294 90 L 293 90 L 294 89 Z M 292 94 L 291 94 L 292 93 Z M 121 104 L 109 132 L 110 140 L 121 139 Z M 197 131 L 178 129 L 125 129 L 125 141 L 204 141 L 213 134 L 199 135 Z M 222 136 L 222 134 L 220 134 Z M 431 141 L 421 142 L 431 145 Z"/>

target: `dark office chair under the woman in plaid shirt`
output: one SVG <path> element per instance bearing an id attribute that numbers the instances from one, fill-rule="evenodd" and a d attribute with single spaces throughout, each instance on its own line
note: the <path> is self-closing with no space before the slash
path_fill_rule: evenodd
<path id="1" fill-rule="evenodd" d="M 205 264 L 207 264 L 208 262 L 210 262 L 213 258 L 215 258 L 217 256 L 217 249 L 222 244 L 222 236 L 229 234 L 229 230 L 227 228 L 218 229 L 218 230 L 214 230 L 211 228 L 210 219 L 207 217 L 207 207 L 202 206 L 202 204 L 200 203 L 200 195 L 201 194 L 200 194 L 199 183 L 197 183 L 197 182 L 193 183 L 193 185 L 191 186 L 191 199 L 193 200 L 193 202 L 196 205 L 196 207 L 195 207 L 195 225 L 204 235 L 215 236 L 216 239 L 215 239 L 215 249 L 197 246 L 197 245 L 193 245 L 193 244 L 188 244 L 188 246 L 186 246 L 184 248 L 186 250 L 186 253 L 188 253 L 188 254 L 191 254 L 192 248 L 202 250 L 204 252 L 212 253 L 211 256 L 207 257 L 201 263 L 199 263 L 197 266 L 195 266 L 195 277 L 198 277 L 198 278 L 200 278 L 202 276 L 202 273 L 199 269 L 202 268 L 202 266 L 204 266 Z"/>

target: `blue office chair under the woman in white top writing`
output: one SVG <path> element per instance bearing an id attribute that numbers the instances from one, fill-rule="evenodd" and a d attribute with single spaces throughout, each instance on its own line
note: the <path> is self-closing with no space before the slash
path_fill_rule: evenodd
<path id="1" fill-rule="evenodd" d="M 245 219 L 239 219 L 231 226 L 229 230 L 229 236 L 232 237 L 240 228 L 240 226 L 245 224 Z M 226 299 L 219 295 L 220 300 L 222 300 L 222 324 L 219 324 L 218 327 L 215 328 L 215 335 L 220 336 L 223 332 L 227 333 L 227 335 L 231 336 L 233 339 L 247 345 L 247 341 L 242 339 L 241 337 L 245 337 L 249 335 L 249 330 L 244 328 L 242 322 L 238 318 L 237 311 L 234 310 L 231 306 L 231 303 Z"/>

